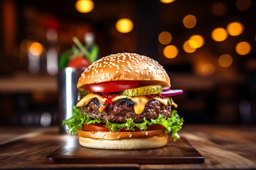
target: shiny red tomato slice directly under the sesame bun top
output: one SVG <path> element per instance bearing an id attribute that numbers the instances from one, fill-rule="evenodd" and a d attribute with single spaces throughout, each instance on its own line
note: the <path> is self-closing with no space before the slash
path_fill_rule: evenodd
<path id="1" fill-rule="evenodd" d="M 86 84 L 85 90 L 93 92 L 115 92 L 135 88 L 137 86 L 139 86 L 139 81 L 110 81 Z"/>

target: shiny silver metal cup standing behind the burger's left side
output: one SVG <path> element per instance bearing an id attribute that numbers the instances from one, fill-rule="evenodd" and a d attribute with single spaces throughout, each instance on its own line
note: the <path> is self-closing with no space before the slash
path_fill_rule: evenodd
<path id="1" fill-rule="evenodd" d="M 78 89 L 76 83 L 85 68 L 66 67 L 58 73 L 59 85 L 59 117 L 60 132 L 67 132 L 67 126 L 62 126 L 62 121 L 72 116 L 72 107 L 78 100 Z"/>

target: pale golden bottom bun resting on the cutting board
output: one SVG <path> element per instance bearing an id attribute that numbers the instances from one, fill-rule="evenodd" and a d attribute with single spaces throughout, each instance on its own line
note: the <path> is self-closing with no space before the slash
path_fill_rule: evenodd
<path id="1" fill-rule="evenodd" d="M 99 133 L 102 133 L 102 132 L 99 132 Z M 104 132 L 104 133 L 106 134 L 110 133 L 112 135 L 113 132 Z M 126 132 L 117 132 L 117 133 L 122 134 Z M 130 132 L 130 133 L 136 133 L 136 132 Z M 168 135 L 166 133 L 165 134 L 162 133 L 162 135 L 155 135 L 151 137 L 149 137 L 148 135 L 148 137 L 146 138 L 130 138 L 130 139 L 119 138 L 114 140 L 113 139 L 108 140 L 108 139 L 102 139 L 102 138 L 92 139 L 90 138 L 90 136 L 85 137 L 83 135 L 80 135 L 79 133 L 78 135 L 79 135 L 79 143 L 81 146 L 84 146 L 87 148 L 97 148 L 97 149 L 118 149 L 118 150 L 152 149 L 152 148 L 161 148 L 165 146 L 168 142 Z"/>

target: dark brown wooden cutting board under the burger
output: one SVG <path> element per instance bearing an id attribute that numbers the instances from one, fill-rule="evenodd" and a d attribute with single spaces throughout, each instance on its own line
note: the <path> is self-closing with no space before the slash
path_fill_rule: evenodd
<path id="1" fill-rule="evenodd" d="M 157 149 L 104 150 L 80 146 L 70 141 L 47 156 L 49 163 L 203 163 L 204 157 L 181 137 Z"/>

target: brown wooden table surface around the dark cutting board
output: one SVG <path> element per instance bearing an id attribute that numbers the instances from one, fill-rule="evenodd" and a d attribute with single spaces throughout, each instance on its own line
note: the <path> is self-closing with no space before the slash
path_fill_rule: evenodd
<path id="1" fill-rule="evenodd" d="M 71 137 L 58 128 L 0 128 L 0 169 L 256 169 L 256 126 L 184 125 L 185 137 L 204 157 L 199 164 L 50 164 L 46 156 Z"/>

